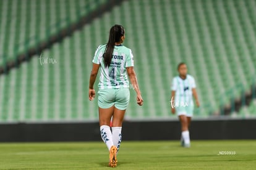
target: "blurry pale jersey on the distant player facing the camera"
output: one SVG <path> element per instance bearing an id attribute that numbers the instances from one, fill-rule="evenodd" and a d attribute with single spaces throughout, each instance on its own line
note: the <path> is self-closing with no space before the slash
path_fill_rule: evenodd
<path id="1" fill-rule="evenodd" d="M 192 98 L 192 89 L 195 88 L 195 79 L 187 75 L 186 79 L 182 79 L 180 76 L 173 78 L 171 90 L 175 91 L 175 105 L 179 106 L 194 106 Z"/>

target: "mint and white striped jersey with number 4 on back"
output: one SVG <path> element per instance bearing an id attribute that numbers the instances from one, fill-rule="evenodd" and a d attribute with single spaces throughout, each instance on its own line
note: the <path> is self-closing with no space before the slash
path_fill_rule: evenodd
<path id="1" fill-rule="evenodd" d="M 99 89 L 129 88 L 126 67 L 134 67 L 132 51 L 125 46 L 114 46 L 111 64 L 105 68 L 103 54 L 105 45 L 98 46 L 93 57 L 93 63 L 100 64 Z"/>

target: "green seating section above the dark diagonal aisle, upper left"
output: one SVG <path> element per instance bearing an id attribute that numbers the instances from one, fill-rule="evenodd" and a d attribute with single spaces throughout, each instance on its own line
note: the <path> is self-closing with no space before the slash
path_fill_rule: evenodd
<path id="1" fill-rule="evenodd" d="M 0 65 L 4 59 L 14 59 L 27 46 L 36 46 L 61 28 L 77 22 L 105 1 L 0 1 Z"/>

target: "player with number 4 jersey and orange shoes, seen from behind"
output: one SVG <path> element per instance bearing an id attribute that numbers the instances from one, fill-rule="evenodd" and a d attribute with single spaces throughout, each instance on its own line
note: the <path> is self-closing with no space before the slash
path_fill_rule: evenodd
<path id="1" fill-rule="evenodd" d="M 140 106 L 143 104 L 134 71 L 134 56 L 129 48 L 122 45 L 124 39 L 123 26 L 112 26 L 109 31 L 108 44 L 100 45 L 96 49 L 89 84 L 89 100 L 93 100 L 95 98 L 93 84 L 100 68 L 100 83 L 98 84 L 100 133 L 109 150 L 109 166 L 111 167 L 117 166 L 116 154 L 122 140 L 122 121 L 130 99 L 127 74 L 137 93 L 137 103 Z M 112 132 L 109 127 L 111 117 L 113 117 Z"/>

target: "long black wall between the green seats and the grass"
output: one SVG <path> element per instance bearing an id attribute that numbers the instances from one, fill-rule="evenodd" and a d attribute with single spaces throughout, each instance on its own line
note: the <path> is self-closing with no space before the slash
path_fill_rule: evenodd
<path id="1" fill-rule="evenodd" d="M 192 121 L 197 139 L 256 139 L 256 119 Z M 98 123 L 0 124 L 0 142 L 99 141 Z M 179 140 L 179 121 L 125 122 L 123 140 Z"/>

